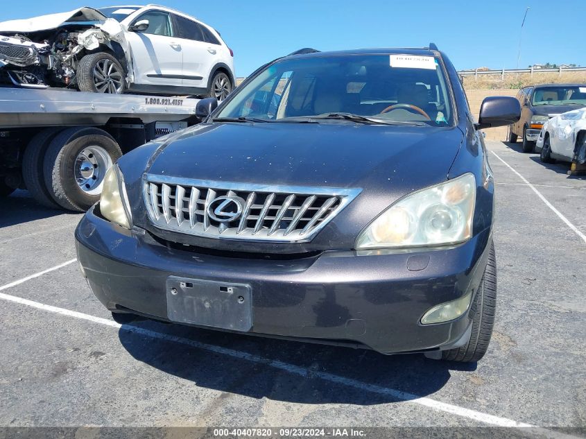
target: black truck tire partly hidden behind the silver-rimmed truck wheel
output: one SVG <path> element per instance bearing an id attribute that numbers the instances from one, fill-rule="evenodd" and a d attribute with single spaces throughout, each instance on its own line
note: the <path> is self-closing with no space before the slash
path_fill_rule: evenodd
<path id="1" fill-rule="evenodd" d="M 43 176 L 44 155 L 47 148 L 49 148 L 49 143 L 60 131 L 61 128 L 45 128 L 37 132 L 28 142 L 22 157 L 22 178 L 26 189 L 37 203 L 44 207 L 49 207 L 49 209 L 58 209 L 60 206 L 55 203 L 45 186 Z"/>

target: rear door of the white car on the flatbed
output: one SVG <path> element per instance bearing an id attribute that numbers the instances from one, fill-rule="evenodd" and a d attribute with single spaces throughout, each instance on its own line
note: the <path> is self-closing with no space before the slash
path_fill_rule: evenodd
<path id="1" fill-rule="evenodd" d="M 183 86 L 207 87 L 209 73 L 218 58 L 219 46 L 207 41 L 207 29 L 196 21 L 173 14 L 173 23 L 175 35 L 184 48 Z"/>

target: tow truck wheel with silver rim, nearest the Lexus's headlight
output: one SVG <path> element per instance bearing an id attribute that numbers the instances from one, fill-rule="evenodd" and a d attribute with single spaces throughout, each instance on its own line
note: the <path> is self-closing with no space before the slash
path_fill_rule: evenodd
<path id="1" fill-rule="evenodd" d="M 104 130 L 68 128 L 46 150 L 46 189 L 64 209 L 85 212 L 100 199 L 104 175 L 121 156 L 120 146 Z"/>

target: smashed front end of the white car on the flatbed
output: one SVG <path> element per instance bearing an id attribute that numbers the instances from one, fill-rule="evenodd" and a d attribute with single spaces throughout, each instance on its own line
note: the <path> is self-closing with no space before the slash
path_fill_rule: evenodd
<path id="1" fill-rule="evenodd" d="M 132 71 L 121 25 L 92 8 L 5 21 L 0 23 L 0 85 L 74 87 L 83 55 L 100 49 L 116 54 Z"/>

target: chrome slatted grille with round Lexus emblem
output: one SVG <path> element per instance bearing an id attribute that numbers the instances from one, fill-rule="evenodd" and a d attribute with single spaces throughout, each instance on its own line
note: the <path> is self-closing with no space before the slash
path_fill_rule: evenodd
<path id="1" fill-rule="evenodd" d="M 144 177 L 144 201 L 156 227 L 218 239 L 310 241 L 360 192 Z"/>

